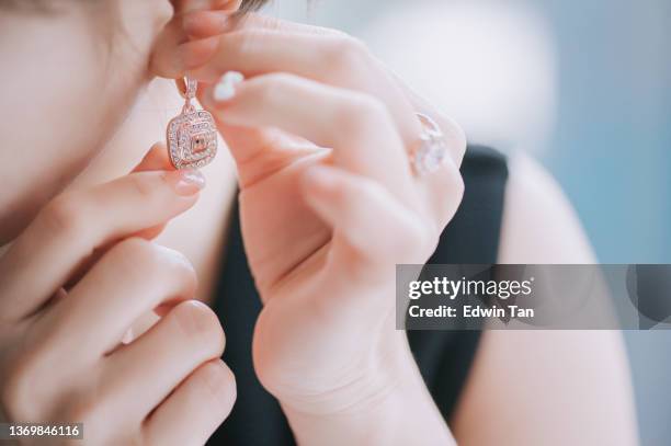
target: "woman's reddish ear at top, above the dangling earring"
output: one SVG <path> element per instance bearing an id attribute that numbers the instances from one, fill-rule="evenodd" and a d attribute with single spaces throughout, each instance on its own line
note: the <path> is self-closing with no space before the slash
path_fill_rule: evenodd
<path id="1" fill-rule="evenodd" d="M 218 47 L 218 36 L 242 0 L 170 0 L 173 15 L 158 35 L 151 54 L 152 76 L 178 79 L 205 64 Z"/>

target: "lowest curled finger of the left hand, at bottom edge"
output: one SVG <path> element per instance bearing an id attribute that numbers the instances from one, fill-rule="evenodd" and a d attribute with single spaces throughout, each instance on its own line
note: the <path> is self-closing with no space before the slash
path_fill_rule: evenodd
<path id="1" fill-rule="evenodd" d="M 148 445 L 204 445 L 230 414 L 236 380 L 220 359 L 196 369 L 145 422 Z"/>

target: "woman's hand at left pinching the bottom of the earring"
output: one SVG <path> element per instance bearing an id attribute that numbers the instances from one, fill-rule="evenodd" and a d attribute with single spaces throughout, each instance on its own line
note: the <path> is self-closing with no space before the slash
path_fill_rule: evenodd
<path id="1" fill-rule="evenodd" d="M 219 321 L 187 300 L 189 261 L 148 240 L 204 184 L 152 168 L 161 150 L 126 176 L 56 197 L 0 258 L 0 420 L 83 423 L 86 444 L 189 445 L 230 412 Z M 159 306 L 170 310 L 122 343 Z"/>

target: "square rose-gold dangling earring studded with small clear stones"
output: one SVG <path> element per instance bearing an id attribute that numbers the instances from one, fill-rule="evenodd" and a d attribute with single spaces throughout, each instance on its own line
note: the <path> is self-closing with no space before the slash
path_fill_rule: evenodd
<path id="1" fill-rule="evenodd" d="M 175 169 L 202 168 L 217 155 L 217 129 L 212 115 L 191 103 L 197 87 L 197 81 L 184 78 L 184 91 L 180 90 L 185 101 L 182 113 L 168 123 L 168 153 Z"/>

